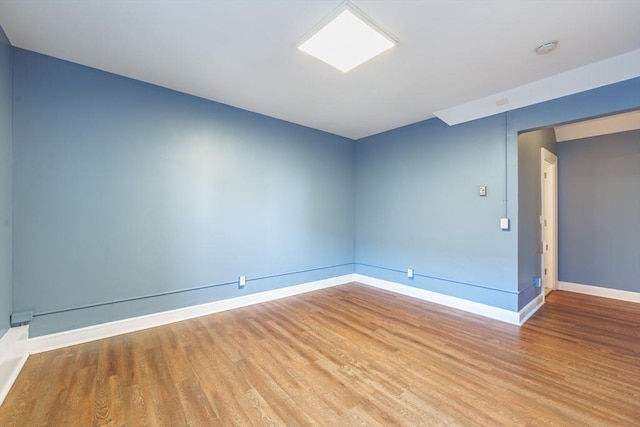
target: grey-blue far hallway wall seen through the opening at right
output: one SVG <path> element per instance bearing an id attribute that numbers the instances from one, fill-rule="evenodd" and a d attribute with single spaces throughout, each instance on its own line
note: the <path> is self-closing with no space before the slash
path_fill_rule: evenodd
<path id="1" fill-rule="evenodd" d="M 559 280 L 640 292 L 640 131 L 558 144 Z"/>

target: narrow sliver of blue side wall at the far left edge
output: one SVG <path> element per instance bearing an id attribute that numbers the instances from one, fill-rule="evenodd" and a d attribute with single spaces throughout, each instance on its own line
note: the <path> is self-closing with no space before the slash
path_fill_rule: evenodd
<path id="1" fill-rule="evenodd" d="M 12 48 L 0 27 L 0 337 L 9 329 L 11 268 L 11 79 Z"/>

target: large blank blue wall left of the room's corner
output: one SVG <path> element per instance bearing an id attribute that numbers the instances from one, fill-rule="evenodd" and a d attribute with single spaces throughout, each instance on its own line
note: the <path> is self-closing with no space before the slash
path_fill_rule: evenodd
<path id="1" fill-rule="evenodd" d="M 21 49 L 13 90 L 32 335 L 353 272 L 351 140 Z"/>

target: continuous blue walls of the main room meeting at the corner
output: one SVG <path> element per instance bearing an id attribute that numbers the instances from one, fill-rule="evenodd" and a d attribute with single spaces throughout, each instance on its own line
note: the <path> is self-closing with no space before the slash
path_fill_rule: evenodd
<path id="1" fill-rule="evenodd" d="M 520 135 L 640 108 L 637 78 L 352 141 L 2 41 L 0 336 L 12 311 L 42 335 L 353 272 L 518 311 L 539 292 Z"/>

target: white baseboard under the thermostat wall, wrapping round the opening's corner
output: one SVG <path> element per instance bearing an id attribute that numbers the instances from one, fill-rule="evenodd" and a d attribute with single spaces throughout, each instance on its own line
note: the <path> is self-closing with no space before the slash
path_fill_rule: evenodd
<path id="1" fill-rule="evenodd" d="M 395 292 L 397 294 L 434 302 L 436 304 L 463 310 L 473 314 L 479 314 L 480 316 L 489 317 L 491 319 L 500 320 L 501 322 L 511 323 L 512 325 L 518 326 L 521 326 L 526 322 L 527 319 L 542 306 L 542 299 L 538 297 L 527 304 L 527 306 L 521 311 L 517 312 L 357 273 L 355 274 L 354 280 L 358 283 Z"/>

